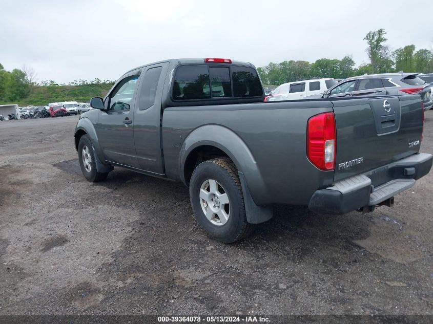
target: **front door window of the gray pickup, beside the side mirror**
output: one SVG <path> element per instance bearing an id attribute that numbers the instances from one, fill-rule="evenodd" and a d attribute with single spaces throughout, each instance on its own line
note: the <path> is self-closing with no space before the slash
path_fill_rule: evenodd
<path id="1" fill-rule="evenodd" d="M 131 75 L 121 80 L 110 95 L 109 111 L 128 111 L 137 89 L 138 75 Z"/>

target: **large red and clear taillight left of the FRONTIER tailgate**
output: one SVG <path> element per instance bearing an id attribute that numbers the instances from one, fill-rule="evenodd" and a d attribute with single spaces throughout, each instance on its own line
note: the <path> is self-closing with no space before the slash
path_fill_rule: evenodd
<path id="1" fill-rule="evenodd" d="M 317 168 L 335 169 L 337 137 L 334 113 L 324 113 L 308 119 L 307 157 Z"/>

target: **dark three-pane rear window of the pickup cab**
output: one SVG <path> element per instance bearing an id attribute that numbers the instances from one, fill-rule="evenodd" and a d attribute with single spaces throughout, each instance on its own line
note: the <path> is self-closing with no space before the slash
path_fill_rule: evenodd
<path id="1" fill-rule="evenodd" d="M 176 69 L 173 100 L 249 98 L 263 95 L 256 70 L 241 66 L 181 65 Z"/>

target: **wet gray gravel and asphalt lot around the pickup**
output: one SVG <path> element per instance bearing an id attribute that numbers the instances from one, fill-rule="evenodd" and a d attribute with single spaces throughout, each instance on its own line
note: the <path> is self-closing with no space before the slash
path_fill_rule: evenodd
<path id="1" fill-rule="evenodd" d="M 276 206 L 222 245 L 180 183 L 120 168 L 86 181 L 77 119 L 0 122 L 0 315 L 433 314 L 433 172 L 394 208 Z"/>

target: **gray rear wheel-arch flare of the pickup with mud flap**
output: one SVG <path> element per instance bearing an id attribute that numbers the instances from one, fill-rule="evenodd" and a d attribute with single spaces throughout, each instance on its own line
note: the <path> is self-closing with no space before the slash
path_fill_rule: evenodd
<path id="1" fill-rule="evenodd" d="M 184 178 L 185 162 L 195 148 L 203 145 L 214 146 L 222 150 L 235 163 L 241 173 L 242 192 L 249 222 L 261 223 L 270 219 L 269 212 L 263 213 L 266 214 L 265 220 L 259 220 L 258 217 L 254 217 L 253 220 L 250 217 L 253 215 L 252 208 L 267 208 L 260 206 L 263 205 L 262 201 L 269 201 L 268 190 L 248 146 L 236 133 L 225 126 L 217 124 L 200 126 L 185 138 L 179 153 L 179 170 L 182 182 L 187 184 Z M 257 212 L 254 214 L 257 215 Z"/>

